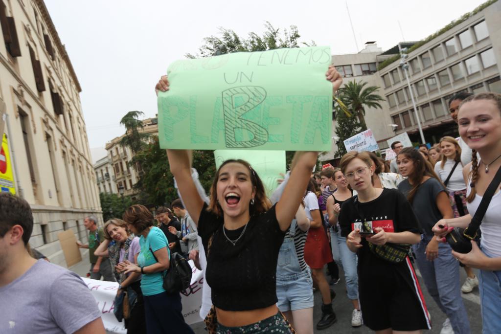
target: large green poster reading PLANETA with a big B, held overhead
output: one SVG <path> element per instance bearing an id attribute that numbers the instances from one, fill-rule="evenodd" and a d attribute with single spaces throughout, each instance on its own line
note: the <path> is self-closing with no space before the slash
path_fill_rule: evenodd
<path id="1" fill-rule="evenodd" d="M 158 94 L 162 148 L 330 151 L 330 48 L 174 62 Z"/>

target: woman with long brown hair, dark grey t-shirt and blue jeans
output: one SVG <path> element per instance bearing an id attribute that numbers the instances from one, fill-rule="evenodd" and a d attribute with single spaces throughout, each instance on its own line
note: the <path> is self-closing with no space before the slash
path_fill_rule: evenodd
<path id="1" fill-rule="evenodd" d="M 443 331 L 469 333 L 459 286 L 459 266 L 450 246 L 439 243 L 431 231 L 436 221 L 453 217 L 449 196 L 431 165 L 413 147 L 400 151 L 397 164 L 400 174 L 407 177 L 398 189 L 412 204 L 422 229 L 421 241 L 413 246 L 416 262 L 428 292 L 447 315 Z"/>

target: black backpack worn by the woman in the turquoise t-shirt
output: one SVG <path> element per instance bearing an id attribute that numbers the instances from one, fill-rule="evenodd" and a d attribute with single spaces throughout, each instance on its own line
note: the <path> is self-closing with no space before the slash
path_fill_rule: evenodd
<path id="1" fill-rule="evenodd" d="M 151 254 L 158 262 L 158 259 L 153 253 L 150 247 Z M 193 275 L 193 270 L 188 263 L 188 260 L 179 253 L 170 253 L 170 266 L 167 270 L 167 274 L 164 275 L 162 272 L 163 284 L 167 293 L 179 293 L 188 289 L 191 285 L 191 276 Z"/>

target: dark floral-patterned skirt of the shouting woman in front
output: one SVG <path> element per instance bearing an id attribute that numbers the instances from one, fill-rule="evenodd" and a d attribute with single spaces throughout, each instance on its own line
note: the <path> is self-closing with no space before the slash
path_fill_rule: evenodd
<path id="1" fill-rule="evenodd" d="M 241 327 L 226 327 L 217 323 L 217 334 L 260 334 L 260 333 L 286 333 L 295 334 L 296 331 L 285 316 L 279 311 L 274 316 L 270 316 L 256 323 L 251 323 Z"/>

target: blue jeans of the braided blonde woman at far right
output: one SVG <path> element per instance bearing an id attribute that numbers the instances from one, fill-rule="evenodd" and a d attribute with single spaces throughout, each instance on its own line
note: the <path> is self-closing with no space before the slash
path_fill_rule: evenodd
<path id="1" fill-rule="evenodd" d="M 485 255 L 493 257 L 482 249 Z M 480 270 L 482 333 L 501 333 L 501 270 Z"/>

